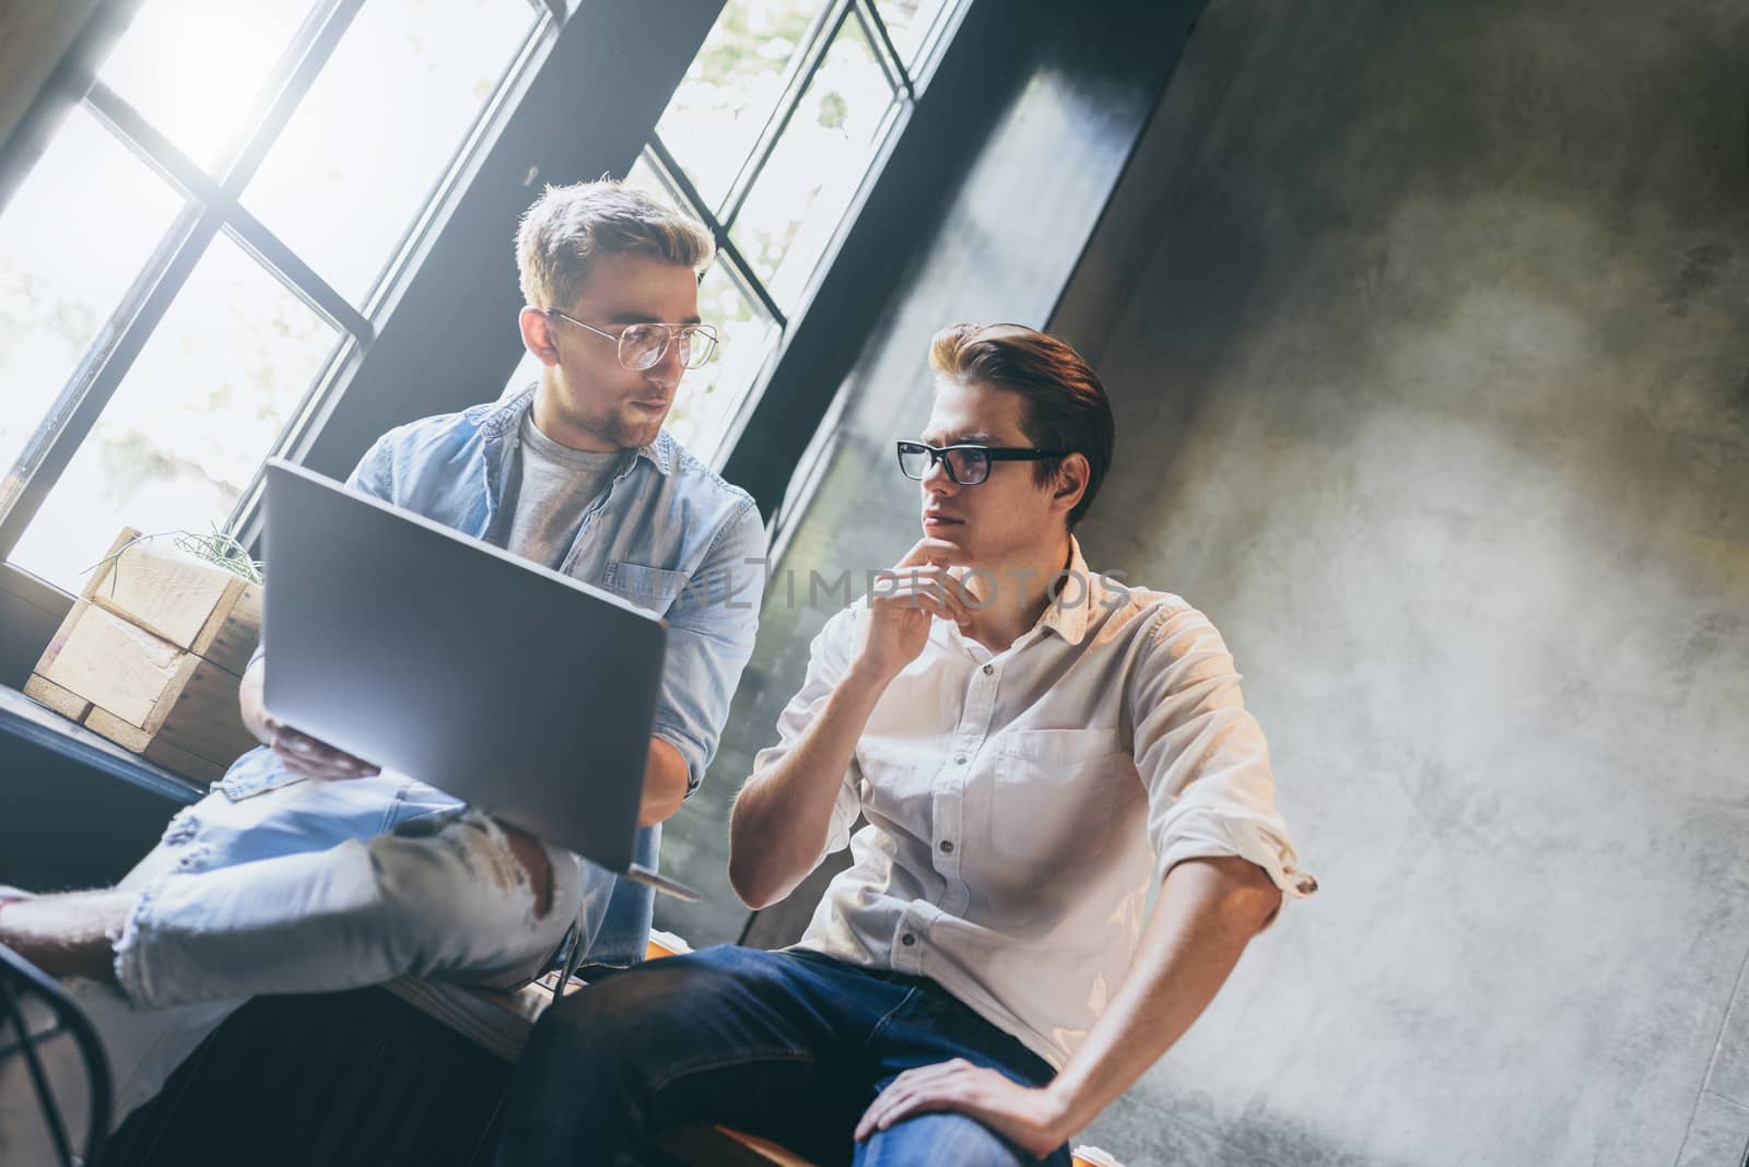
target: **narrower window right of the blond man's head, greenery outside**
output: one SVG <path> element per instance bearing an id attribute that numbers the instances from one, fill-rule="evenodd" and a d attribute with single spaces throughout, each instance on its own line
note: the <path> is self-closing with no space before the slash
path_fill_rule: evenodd
<path id="1" fill-rule="evenodd" d="M 668 419 L 701 459 L 726 458 L 955 7 L 729 0 L 675 89 L 628 178 L 717 238 L 700 314 L 722 348 Z M 537 370 L 525 362 L 512 388 Z"/>

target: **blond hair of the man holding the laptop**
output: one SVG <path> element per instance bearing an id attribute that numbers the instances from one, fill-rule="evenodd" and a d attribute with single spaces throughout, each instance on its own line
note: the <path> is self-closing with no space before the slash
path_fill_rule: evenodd
<path id="1" fill-rule="evenodd" d="M 616 178 L 549 185 L 516 227 L 516 271 L 533 307 L 575 304 L 598 255 L 649 255 L 701 273 L 715 250 L 696 218 Z"/>

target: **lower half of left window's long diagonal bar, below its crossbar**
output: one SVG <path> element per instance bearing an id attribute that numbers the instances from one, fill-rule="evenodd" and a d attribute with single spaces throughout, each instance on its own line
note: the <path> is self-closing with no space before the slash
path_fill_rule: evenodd
<path id="1" fill-rule="evenodd" d="M 9 557 L 17 547 L 24 528 L 37 517 L 42 501 L 96 426 L 219 227 L 220 215 L 215 208 L 198 208 L 191 203 L 122 295 L 103 332 L 61 390 L 54 409 L 37 426 L 30 445 L 19 456 L 19 465 L 35 461 L 35 466 L 23 475 L 23 480 L 9 480 L 7 496 L 0 496 L 0 559 Z"/>

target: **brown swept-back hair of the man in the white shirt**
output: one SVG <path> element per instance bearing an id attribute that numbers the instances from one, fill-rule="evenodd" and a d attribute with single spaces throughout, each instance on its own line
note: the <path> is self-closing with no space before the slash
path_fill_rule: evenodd
<path id="1" fill-rule="evenodd" d="M 1020 428 L 1028 442 L 1088 459 L 1088 489 L 1069 512 L 1074 531 L 1111 470 L 1116 445 L 1105 386 L 1081 353 L 1025 325 L 948 325 L 929 342 L 929 363 L 948 381 L 1020 393 L 1027 402 Z M 1032 463 L 1034 482 L 1048 486 L 1062 465 L 1062 458 Z"/>

